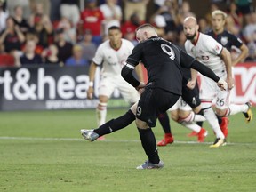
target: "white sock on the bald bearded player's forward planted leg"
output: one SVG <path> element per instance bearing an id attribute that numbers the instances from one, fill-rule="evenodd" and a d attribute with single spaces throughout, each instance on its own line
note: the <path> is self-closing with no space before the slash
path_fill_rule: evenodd
<path id="1" fill-rule="evenodd" d="M 225 136 L 220 130 L 218 119 L 212 108 L 204 109 L 204 117 L 207 119 L 208 123 L 211 125 L 213 132 L 215 132 L 216 138 L 225 139 Z"/>

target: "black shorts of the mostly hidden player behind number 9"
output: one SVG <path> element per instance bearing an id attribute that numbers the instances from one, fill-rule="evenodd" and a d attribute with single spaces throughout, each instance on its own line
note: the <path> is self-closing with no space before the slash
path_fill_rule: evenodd
<path id="1" fill-rule="evenodd" d="M 189 89 L 187 87 L 187 84 L 183 84 L 182 87 L 182 99 L 185 100 L 186 103 L 188 103 L 188 105 L 191 108 L 196 108 L 197 106 L 199 106 L 201 104 L 201 100 L 199 98 L 199 86 L 196 82 L 196 86 L 193 90 Z"/>

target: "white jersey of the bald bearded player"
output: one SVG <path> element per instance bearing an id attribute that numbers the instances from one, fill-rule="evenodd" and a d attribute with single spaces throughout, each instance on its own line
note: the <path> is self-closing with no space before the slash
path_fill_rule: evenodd
<path id="1" fill-rule="evenodd" d="M 185 49 L 190 56 L 211 68 L 217 76 L 226 71 L 225 63 L 220 58 L 223 46 L 213 39 L 212 36 L 199 33 L 196 44 L 192 44 L 190 40 L 187 40 L 185 42 Z"/>

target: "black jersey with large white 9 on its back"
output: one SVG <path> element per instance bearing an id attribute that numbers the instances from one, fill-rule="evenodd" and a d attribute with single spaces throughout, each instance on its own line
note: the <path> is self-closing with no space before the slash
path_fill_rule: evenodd
<path id="1" fill-rule="evenodd" d="M 148 71 L 148 85 L 181 95 L 181 67 L 190 68 L 194 60 L 178 46 L 153 36 L 135 46 L 127 63 L 135 68 L 141 61 Z"/>

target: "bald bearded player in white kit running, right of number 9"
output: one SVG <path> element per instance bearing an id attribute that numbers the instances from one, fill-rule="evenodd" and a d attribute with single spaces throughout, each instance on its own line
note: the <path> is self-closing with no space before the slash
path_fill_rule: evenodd
<path id="1" fill-rule="evenodd" d="M 183 29 L 187 41 L 185 42 L 185 49 L 196 60 L 202 62 L 205 66 L 212 69 L 212 71 L 222 79 L 226 79 L 228 89 L 220 91 L 217 86 L 208 77 L 202 76 L 200 99 L 202 102 L 202 109 L 204 116 L 211 124 L 213 131 L 216 133 L 216 140 L 212 147 L 220 147 L 225 144 L 225 136 L 220 130 L 217 117 L 212 110 L 212 100 L 216 100 L 216 113 L 219 116 L 234 115 L 238 112 L 243 112 L 244 116 L 249 116 L 252 119 L 252 110 L 250 105 L 235 105 L 229 103 L 229 92 L 234 87 L 231 57 L 230 53 L 221 44 L 215 41 L 211 36 L 204 35 L 198 32 L 198 25 L 196 18 L 188 17 L 184 20 Z M 196 76 L 192 77 L 191 87 L 195 84 Z"/>

